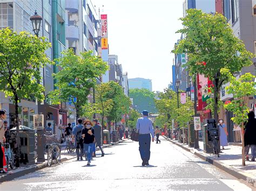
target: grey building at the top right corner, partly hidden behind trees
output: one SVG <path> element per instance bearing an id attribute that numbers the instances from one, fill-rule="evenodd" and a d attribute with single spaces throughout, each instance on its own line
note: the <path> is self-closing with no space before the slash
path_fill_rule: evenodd
<path id="1" fill-rule="evenodd" d="M 219 8 L 218 12 L 223 13 L 227 18 L 227 22 L 233 29 L 233 33 L 236 37 L 241 39 L 247 51 L 256 53 L 256 1 L 254 0 L 219 0 L 216 2 Z M 217 6 L 216 5 L 216 6 Z M 222 5 L 222 6 L 221 6 Z M 252 73 L 255 75 L 256 59 L 253 59 L 253 65 L 250 67 L 244 67 L 241 72 L 237 75 L 243 75 L 245 73 Z M 225 102 L 227 100 L 233 100 L 233 95 L 228 95 L 225 91 L 225 87 L 229 83 L 224 84 L 220 91 L 220 99 Z M 251 96 L 248 99 L 248 107 L 253 108 L 254 97 Z M 231 118 L 233 113 L 222 108 L 219 114 L 220 118 L 224 119 L 228 129 L 228 141 L 234 142 L 233 137 L 233 122 Z"/>

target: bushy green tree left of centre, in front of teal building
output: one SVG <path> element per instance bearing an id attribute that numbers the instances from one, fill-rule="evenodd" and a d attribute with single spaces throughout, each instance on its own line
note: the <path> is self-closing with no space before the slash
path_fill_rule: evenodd
<path id="1" fill-rule="evenodd" d="M 96 77 L 104 74 L 108 66 L 101 58 L 92 55 L 91 51 L 76 55 L 73 49 L 68 49 L 62 54 L 62 58 L 56 59 L 62 69 L 53 74 L 57 83 L 49 98 L 52 104 L 71 101 L 75 105 L 77 117 L 80 117 L 90 89 L 96 84 Z"/>

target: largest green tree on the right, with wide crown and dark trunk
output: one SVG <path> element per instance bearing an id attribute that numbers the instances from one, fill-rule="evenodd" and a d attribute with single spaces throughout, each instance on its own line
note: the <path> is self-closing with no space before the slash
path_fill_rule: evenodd
<path id="1" fill-rule="evenodd" d="M 212 80 L 214 118 L 218 120 L 219 90 L 227 80 L 220 69 L 238 72 L 242 67 L 252 65 L 253 54 L 246 51 L 242 40 L 234 36 L 226 18 L 219 13 L 212 15 L 189 9 L 187 16 L 180 20 L 184 29 L 177 33 L 185 34 L 185 38 L 174 47 L 173 53 L 187 53 L 185 66 L 194 79 L 197 74 L 204 74 Z"/>

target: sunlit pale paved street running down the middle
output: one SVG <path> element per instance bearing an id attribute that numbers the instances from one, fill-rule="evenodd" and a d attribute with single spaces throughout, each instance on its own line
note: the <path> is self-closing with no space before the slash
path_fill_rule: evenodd
<path id="1" fill-rule="evenodd" d="M 149 167 L 142 167 L 138 143 L 105 148 L 105 157 L 74 159 L 0 185 L 0 190 L 251 190 L 233 176 L 161 139 L 151 144 Z"/>

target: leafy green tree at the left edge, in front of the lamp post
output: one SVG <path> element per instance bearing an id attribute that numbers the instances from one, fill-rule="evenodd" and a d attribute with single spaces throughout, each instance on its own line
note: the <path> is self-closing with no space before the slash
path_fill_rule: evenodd
<path id="1" fill-rule="evenodd" d="M 0 30 L 0 90 L 14 101 L 17 136 L 18 103 L 24 98 L 43 100 L 44 87 L 38 83 L 42 80 L 39 69 L 45 63 L 52 63 L 44 53 L 49 47 L 50 43 L 44 37 L 38 38 L 24 31 L 18 34 L 8 28 Z M 16 140 L 19 147 L 19 138 Z"/>

